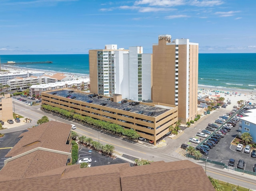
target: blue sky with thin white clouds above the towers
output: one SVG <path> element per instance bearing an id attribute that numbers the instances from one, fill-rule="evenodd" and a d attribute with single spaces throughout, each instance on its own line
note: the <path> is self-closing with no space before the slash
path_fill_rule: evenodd
<path id="1" fill-rule="evenodd" d="M 158 35 L 199 53 L 256 53 L 256 0 L 0 0 L 0 55 L 88 54 L 142 46 Z"/>

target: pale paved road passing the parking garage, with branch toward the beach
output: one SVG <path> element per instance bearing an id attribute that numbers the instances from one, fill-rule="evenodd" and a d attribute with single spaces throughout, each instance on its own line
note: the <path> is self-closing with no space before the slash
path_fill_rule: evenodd
<path id="1" fill-rule="evenodd" d="M 158 148 L 157 146 L 152 146 L 144 142 L 128 142 L 120 138 L 116 138 L 114 136 L 109 136 L 85 125 L 65 120 L 63 118 L 58 118 L 58 116 L 53 116 L 48 113 L 44 113 L 39 109 L 39 106 L 22 106 L 19 104 L 16 105 L 15 112 L 20 115 L 23 115 L 24 117 L 32 118 L 32 124 L 36 124 L 36 121 L 45 115 L 48 116 L 50 120 L 57 120 L 59 122 L 76 124 L 76 132 L 78 134 L 90 137 L 94 141 L 100 140 L 102 144 L 112 144 L 115 146 L 115 150 L 117 152 L 124 153 L 135 158 L 144 158 L 150 161 L 163 160 L 166 162 L 187 159 L 186 157 L 182 156 L 181 153 L 179 152 L 180 145 L 182 143 L 188 142 L 188 138 L 195 136 L 196 132 L 200 132 L 200 130 L 204 129 L 208 123 L 214 122 L 214 120 L 218 116 L 221 116 L 222 114 L 232 109 L 232 106 L 229 105 L 226 109 L 220 108 L 212 112 L 212 114 L 204 116 L 202 119 L 196 122 L 196 125 L 192 125 L 190 128 L 186 128 L 182 136 L 180 136 L 178 139 L 165 138 L 164 143 L 166 143 L 166 146 Z M 20 130 L 22 128 L 28 128 L 28 124 L 24 124 L 20 127 L 12 128 L 9 130 L 2 130 L 1 133 Z M 203 168 L 205 168 L 205 162 L 195 161 L 194 159 L 189 160 L 196 162 L 202 165 Z M 247 174 L 242 175 L 242 173 L 232 172 L 226 169 L 220 169 L 219 166 L 212 165 L 210 163 L 207 163 L 207 175 L 210 175 L 222 181 L 233 183 L 235 185 L 240 185 L 250 189 L 256 189 L 256 177 Z"/>

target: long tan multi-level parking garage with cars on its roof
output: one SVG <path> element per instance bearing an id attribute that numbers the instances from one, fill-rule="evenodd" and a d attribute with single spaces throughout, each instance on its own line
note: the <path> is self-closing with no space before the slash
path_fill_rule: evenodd
<path id="1" fill-rule="evenodd" d="M 52 94 L 54 92 L 54 94 Z M 75 96 L 74 99 L 66 96 Z M 41 93 L 42 104 L 65 110 L 75 110 L 82 116 L 119 124 L 123 128 L 134 129 L 140 137 L 156 142 L 162 139 L 178 121 L 178 107 L 161 103 L 144 103 L 127 100 L 121 103 L 122 95 L 113 97 L 90 97 L 89 93 L 68 89 Z M 134 104 L 136 103 L 136 104 Z"/>

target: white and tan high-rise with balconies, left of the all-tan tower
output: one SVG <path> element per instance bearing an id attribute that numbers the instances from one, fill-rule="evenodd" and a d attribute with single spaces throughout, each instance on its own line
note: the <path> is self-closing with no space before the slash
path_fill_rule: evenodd
<path id="1" fill-rule="evenodd" d="M 151 100 L 152 54 L 143 47 L 89 50 L 90 92 L 103 96 L 120 94 L 134 101 Z"/>

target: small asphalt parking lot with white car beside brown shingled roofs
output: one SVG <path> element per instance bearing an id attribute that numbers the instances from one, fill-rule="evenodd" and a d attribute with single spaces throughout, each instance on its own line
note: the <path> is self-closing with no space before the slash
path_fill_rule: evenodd
<path id="1" fill-rule="evenodd" d="M 94 166 L 102 166 L 102 165 L 110 165 L 110 164 L 118 164 L 118 163 L 127 163 L 126 160 L 116 158 L 112 159 L 108 156 L 104 156 L 94 150 L 90 150 L 85 146 L 79 145 L 78 151 L 78 161 L 83 158 L 91 158 L 92 162 L 90 163 L 92 167 Z M 136 158 L 129 158 L 130 160 L 135 160 Z M 134 163 L 130 163 L 130 166 L 133 166 Z"/>

